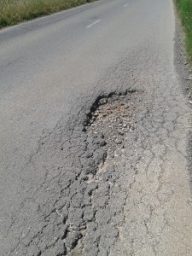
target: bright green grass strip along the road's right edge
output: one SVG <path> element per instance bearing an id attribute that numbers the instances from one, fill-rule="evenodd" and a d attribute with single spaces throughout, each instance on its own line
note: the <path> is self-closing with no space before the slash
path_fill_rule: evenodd
<path id="1" fill-rule="evenodd" d="M 185 32 L 185 46 L 192 64 L 192 0 L 175 0 Z"/>

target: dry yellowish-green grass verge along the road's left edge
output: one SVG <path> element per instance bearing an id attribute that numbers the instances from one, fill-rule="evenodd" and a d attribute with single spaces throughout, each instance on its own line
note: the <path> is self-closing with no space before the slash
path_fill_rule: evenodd
<path id="1" fill-rule="evenodd" d="M 0 0 L 0 28 L 94 0 Z"/>

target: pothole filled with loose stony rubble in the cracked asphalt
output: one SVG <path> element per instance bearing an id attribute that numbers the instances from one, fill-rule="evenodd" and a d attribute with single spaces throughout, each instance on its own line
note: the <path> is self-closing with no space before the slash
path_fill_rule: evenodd
<path id="1" fill-rule="evenodd" d="M 125 142 L 136 129 L 139 102 L 139 92 L 125 91 L 101 97 L 87 114 L 86 132 L 88 136 L 102 137 L 100 146 L 106 150 L 107 160 L 118 160 L 124 154 Z"/>

